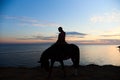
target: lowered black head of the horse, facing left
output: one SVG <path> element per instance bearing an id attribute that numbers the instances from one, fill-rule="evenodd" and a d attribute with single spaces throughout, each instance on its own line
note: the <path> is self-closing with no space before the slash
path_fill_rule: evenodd
<path id="1" fill-rule="evenodd" d="M 47 58 L 47 55 L 43 52 L 40 58 L 41 68 L 44 68 L 46 71 L 49 70 L 49 59 Z"/>

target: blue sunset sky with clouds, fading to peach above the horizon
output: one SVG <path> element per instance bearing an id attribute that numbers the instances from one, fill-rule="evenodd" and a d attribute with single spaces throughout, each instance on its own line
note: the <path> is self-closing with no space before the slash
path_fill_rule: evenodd
<path id="1" fill-rule="evenodd" d="M 120 0 L 0 0 L 0 43 L 120 44 Z"/>

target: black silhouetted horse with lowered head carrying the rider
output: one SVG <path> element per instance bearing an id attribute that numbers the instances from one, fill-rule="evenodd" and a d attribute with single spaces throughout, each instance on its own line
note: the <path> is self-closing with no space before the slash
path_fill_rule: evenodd
<path id="1" fill-rule="evenodd" d="M 63 61 L 71 59 L 71 61 L 73 62 L 73 67 L 75 68 L 75 75 L 77 75 L 77 69 L 79 67 L 80 60 L 79 57 L 79 48 L 75 44 L 53 45 L 41 54 L 39 63 L 41 63 L 42 68 L 49 72 L 49 78 L 55 61 L 60 62 L 65 76 Z M 51 63 L 50 66 L 49 62 Z"/>

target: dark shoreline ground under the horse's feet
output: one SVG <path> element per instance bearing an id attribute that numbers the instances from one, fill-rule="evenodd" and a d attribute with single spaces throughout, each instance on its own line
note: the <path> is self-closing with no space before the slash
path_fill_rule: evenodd
<path id="1" fill-rule="evenodd" d="M 74 68 L 66 66 L 66 77 L 60 67 L 53 68 L 50 80 L 120 80 L 120 67 L 106 65 L 80 66 L 78 76 L 73 75 Z M 40 67 L 0 67 L 0 80 L 46 80 L 48 72 Z"/>

